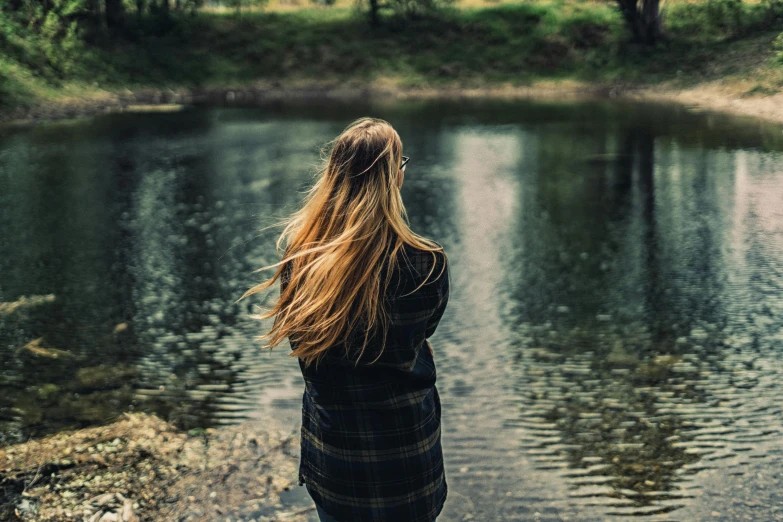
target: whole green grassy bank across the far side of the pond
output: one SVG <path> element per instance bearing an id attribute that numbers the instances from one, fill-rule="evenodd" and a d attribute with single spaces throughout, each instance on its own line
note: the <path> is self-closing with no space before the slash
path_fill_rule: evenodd
<path id="1" fill-rule="evenodd" d="M 783 49 L 776 44 L 783 10 L 777 5 L 668 4 L 666 39 L 655 48 L 628 43 L 613 3 L 573 0 L 463 6 L 414 20 L 387 16 L 375 28 L 339 6 L 240 17 L 202 10 L 165 27 L 154 17 L 128 16 L 122 36 L 79 43 L 59 55 L 38 52 L 40 41 L 7 40 L 0 107 L 255 82 L 397 89 L 719 82 L 739 96 L 768 96 L 783 89 Z"/>

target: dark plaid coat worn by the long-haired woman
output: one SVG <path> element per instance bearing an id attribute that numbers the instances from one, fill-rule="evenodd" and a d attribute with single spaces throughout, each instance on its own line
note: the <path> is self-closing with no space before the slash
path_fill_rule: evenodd
<path id="1" fill-rule="evenodd" d="M 305 380 L 299 485 L 341 522 L 433 522 L 443 509 L 441 405 L 425 340 L 448 302 L 447 257 L 436 253 L 428 283 L 403 296 L 427 277 L 432 256 L 405 245 L 385 296 L 391 317 L 376 362 L 369 364 L 382 333 L 368 340 L 356 367 L 363 336 L 350 356 L 342 344 L 330 348 L 318 370 L 299 359 Z M 286 265 L 281 288 L 289 277 Z"/>

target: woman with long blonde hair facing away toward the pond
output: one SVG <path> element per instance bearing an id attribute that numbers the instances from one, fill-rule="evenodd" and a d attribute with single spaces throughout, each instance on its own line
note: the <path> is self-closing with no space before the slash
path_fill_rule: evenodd
<path id="1" fill-rule="evenodd" d="M 299 485 L 320 520 L 432 522 L 446 500 L 441 405 L 427 338 L 448 302 L 440 244 L 412 232 L 407 158 L 387 122 L 361 118 L 333 142 L 286 220 L 272 347 L 288 337 L 305 381 Z M 426 346 L 426 349 L 425 349 Z"/>

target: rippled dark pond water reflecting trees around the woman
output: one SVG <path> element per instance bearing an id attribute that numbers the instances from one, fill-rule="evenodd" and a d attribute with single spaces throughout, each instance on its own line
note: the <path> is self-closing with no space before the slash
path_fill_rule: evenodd
<path id="1" fill-rule="evenodd" d="M 411 157 L 452 294 L 444 520 L 783 520 L 783 131 L 682 107 L 193 107 L 0 131 L 0 443 L 304 383 L 235 301 L 354 118 Z M 268 325 L 268 323 L 267 323 Z"/>

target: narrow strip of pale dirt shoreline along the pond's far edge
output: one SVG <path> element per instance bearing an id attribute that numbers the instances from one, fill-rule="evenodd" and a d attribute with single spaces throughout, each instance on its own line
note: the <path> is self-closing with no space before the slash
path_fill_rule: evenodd
<path id="1" fill-rule="evenodd" d="M 783 93 L 743 95 L 740 85 L 699 84 L 679 88 L 672 85 L 588 84 L 581 82 L 539 82 L 531 86 L 497 85 L 481 88 L 399 87 L 391 81 L 370 85 L 336 86 L 298 81 L 255 83 L 235 87 L 178 88 L 136 91 L 95 91 L 81 97 L 41 101 L 29 108 L 0 113 L 0 124 L 36 125 L 47 121 L 91 116 L 107 112 L 177 110 L 191 104 L 263 104 L 277 101 L 319 100 L 410 100 L 410 99 L 528 99 L 543 101 L 633 100 L 676 103 L 697 110 L 750 116 L 783 123 Z"/>

